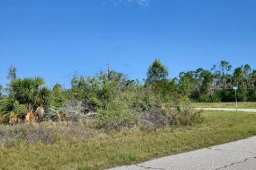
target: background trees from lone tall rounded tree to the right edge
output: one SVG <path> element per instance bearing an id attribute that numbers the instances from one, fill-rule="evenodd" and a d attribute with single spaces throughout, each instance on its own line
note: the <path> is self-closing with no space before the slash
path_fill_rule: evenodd
<path id="1" fill-rule="evenodd" d="M 145 84 L 154 87 L 164 98 L 183 95 L 194 102 L 234 101 L 233 86 L 238 86 L 238 101 L 256 101 L 256 70 L 249 64 L 232 70 L 227 61 L 213 65 L 211 70 L 199 68 L 181 72 L 178 78 L 167 79 L 168 70 L 161 61 L 155 60 L 149 67 Z"/>

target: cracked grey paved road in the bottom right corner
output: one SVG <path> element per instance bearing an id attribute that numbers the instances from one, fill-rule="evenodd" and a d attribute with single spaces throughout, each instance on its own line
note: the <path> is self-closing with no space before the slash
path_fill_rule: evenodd
<path id="1" fill-rule="evenodd" d="M 255 170 L 256 136 L 111 170 Z"/>

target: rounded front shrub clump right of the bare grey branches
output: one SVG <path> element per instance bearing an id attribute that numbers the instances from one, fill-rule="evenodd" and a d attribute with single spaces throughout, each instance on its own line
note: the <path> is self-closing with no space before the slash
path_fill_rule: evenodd
<path id="1" fill-rule="evenodd" d="M 172 104 L 166 104 L 150 86 L 139 89 L 120 93 L 99 109 L 99 127 L 108 131 L 134 127 L 153 130 L 199 122 L 201 114 L 194 111 L 188 98 L 177 97 Z"/>

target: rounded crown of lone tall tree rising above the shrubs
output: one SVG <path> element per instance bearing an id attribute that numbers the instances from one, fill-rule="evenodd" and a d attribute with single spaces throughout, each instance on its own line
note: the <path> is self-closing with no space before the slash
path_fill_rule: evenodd
<path id="1" fill-rule="evenodd" d="M 161 63 L 159 59 L 155 59 L 155 61 L 149 66 L 147 72 L 147 80 L 146 81 L 158 81 L 166 79 L 169 75 L 169 71 L 165 65 Z"/>

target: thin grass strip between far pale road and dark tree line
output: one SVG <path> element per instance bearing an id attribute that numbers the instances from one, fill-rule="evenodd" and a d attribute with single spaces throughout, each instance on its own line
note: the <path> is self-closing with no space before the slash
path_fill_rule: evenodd
<path id="1" fill-rule="evenodd" d="M 193 103 L 197 108 L 235 108 L 236 103 Z M 256 102 L 238 102 L 237 108 L 256 109 Z"/>

